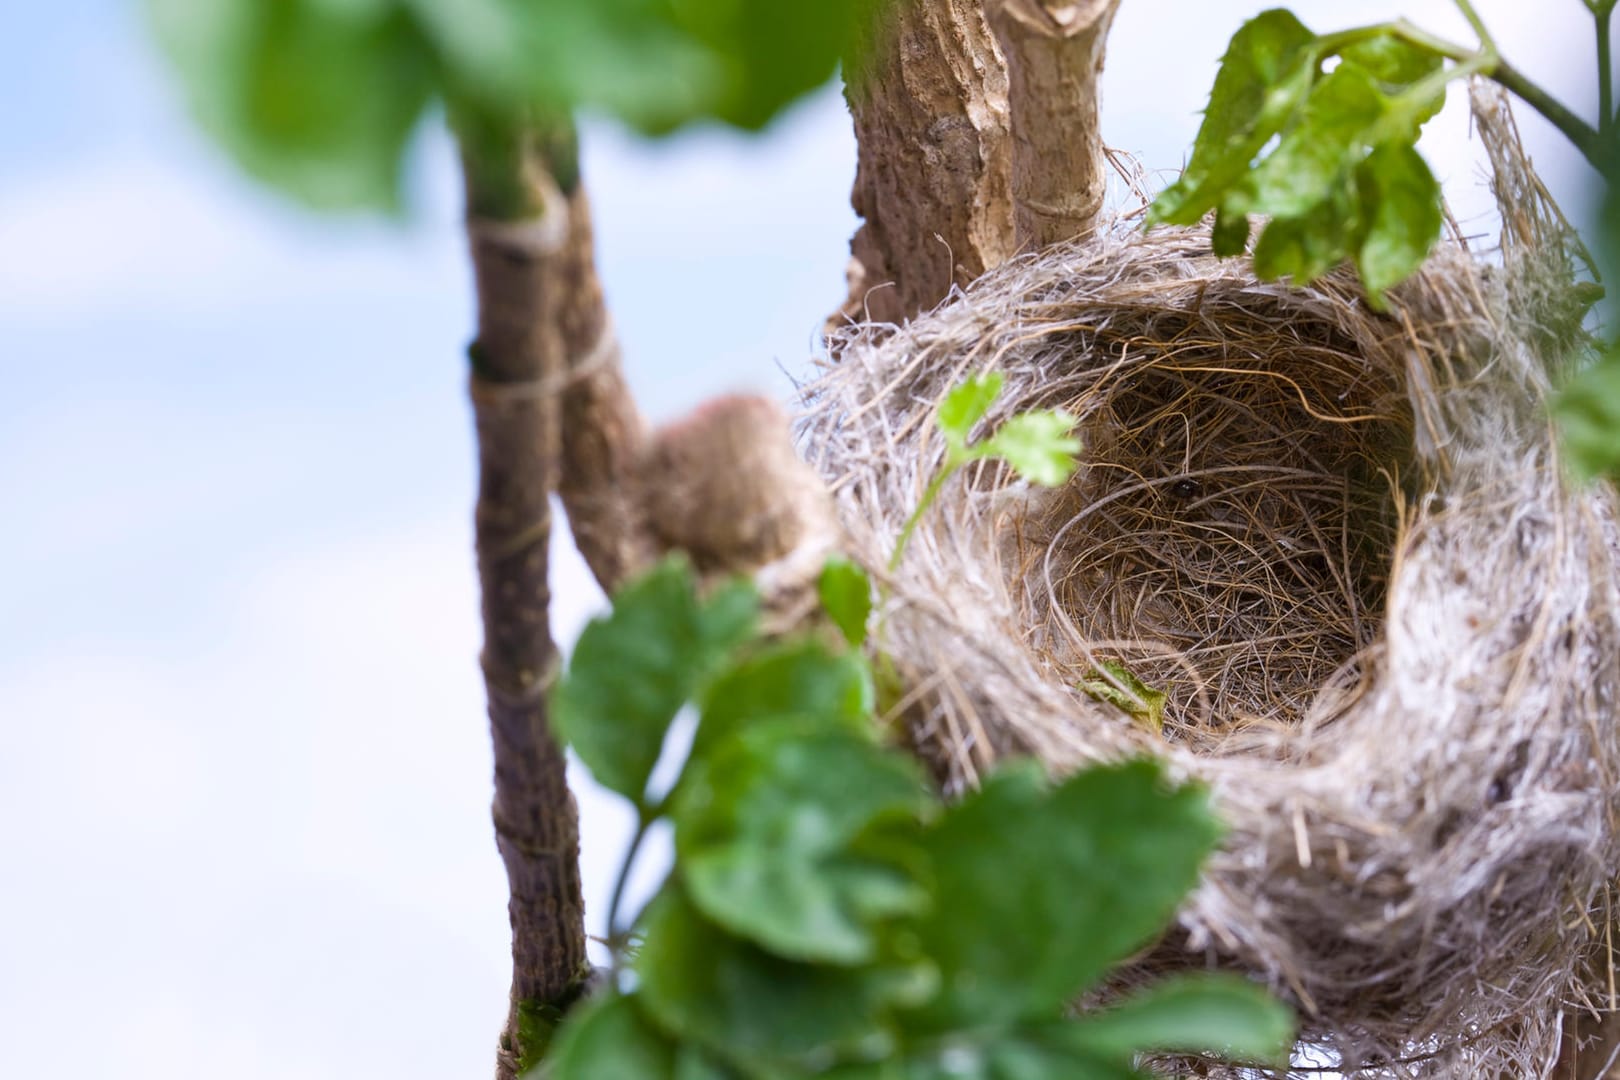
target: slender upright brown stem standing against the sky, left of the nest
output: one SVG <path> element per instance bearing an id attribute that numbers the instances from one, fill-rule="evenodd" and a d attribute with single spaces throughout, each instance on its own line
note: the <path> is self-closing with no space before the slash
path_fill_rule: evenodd
<path id="1" fill-rule="evenodd" d="M 523 1046 L 525 1014 L 565 1007 L 582 993 L 588 965 L 578 813 L 562 748 L 546 724 L 546 690 L 557 669 L 548 542 L 562 461 L 556 389 L 565 374 L 559 303 L 572 238 L 569 202 L 522 152 L 505 164 L 523 165 L 526 189 L 496 191 L 489 172 L 501 162 L 492 157 L 467 167 L 467 228 L 478 288 L 471 402 L 483 670 L 494 738 L 496 845 L 512 921 L 512 1010 L 496 1075 L 510 1080 L 531 1049 Z M 509 168 L 501 180 L 514 175 Z M 492 212 L 502 220 L 486 217 Z"/>

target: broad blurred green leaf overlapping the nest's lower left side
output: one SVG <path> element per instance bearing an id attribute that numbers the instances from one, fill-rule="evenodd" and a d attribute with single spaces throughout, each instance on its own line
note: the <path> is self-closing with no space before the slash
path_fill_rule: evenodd
<path id="1" fill-rule="evenodd" d="M 925 1031 L 1050 1015 L 1165 928 L 1220 829 L 1205 792 L 1152 761 L 1050 789 L 1001 769 L 928 836 L 936 895 L 919 921 L 944 980 Z"/>

